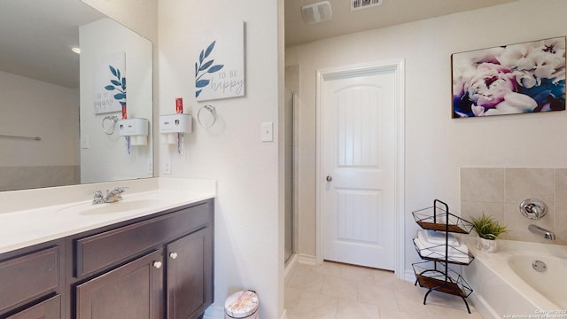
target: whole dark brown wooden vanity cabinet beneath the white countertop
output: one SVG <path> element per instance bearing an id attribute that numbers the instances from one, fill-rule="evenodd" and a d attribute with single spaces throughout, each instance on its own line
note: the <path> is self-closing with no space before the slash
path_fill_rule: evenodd
<path id="1" fill-rule="evenodd" d="M 214 302 L 213 199 L 59 243 L 0 254 L 0 319 L 195 319 Z"/>

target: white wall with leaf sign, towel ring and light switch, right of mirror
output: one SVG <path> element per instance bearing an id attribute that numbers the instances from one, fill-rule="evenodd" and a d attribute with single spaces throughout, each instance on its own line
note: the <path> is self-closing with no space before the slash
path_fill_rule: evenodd
<path id="1" fill-rule="evenodd" d="M 282 7 L 281 0 L 159 1 L 159 113 L 175 113 L 175 97 L 183 97 L 184 113 L 194 117 L 206 104 L 218 113 L 213 128 L 201 128 L 193 121 L 183 154 L 159 145 L 159 159 L 171 159 L 173 176 L 218 181 L 214 307 L 222 311 L 229 294 L 252 289 L 260 296 L 264 318 L 279 318 L 283 312 L 278 145 Z M 197 102 L 194 64 L 204 48 L 193 43 L 235 19 L 245 21 L 245 97 Z M 260 124 L 265 121 L 274 122 L 275 142 L 260 142 Z M 159 175 L 164 175 L 162 166 Z"/>

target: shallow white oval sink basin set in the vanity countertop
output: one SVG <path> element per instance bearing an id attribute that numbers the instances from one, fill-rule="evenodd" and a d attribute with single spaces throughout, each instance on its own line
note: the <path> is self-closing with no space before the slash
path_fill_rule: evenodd
<path id="1" fill-rule="evenodd" d="M 122 199 L 119 202 L 97 204 L 83 203 L 74 206 L 68 206 L 58 211 L 61 213 L 74 213 L 82 215 L 97 215 L 97 214 L 115 214 L 126 211 L 133 211 L 143 209 L 151 206 L 159 206 L 163 204 L 162 200 L 156 198 L 128 198 Z"/>

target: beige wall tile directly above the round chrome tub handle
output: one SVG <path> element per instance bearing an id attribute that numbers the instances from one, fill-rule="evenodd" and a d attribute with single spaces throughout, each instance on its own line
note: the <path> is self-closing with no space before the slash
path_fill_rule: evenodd
<path id="1" fill-rule="evenodd" d="M 526 198 L 554 206 L 553 168 L 506 168 L 506 203 L 520 205 Z"/>

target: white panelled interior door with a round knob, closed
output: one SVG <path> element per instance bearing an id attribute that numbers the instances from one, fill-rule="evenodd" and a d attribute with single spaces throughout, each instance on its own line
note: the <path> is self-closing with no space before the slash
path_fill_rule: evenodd
<path id="1" fill-rule="evenodd" d="M 395 70 L 324 78 L 323 259 L 395 266 Z"/>

